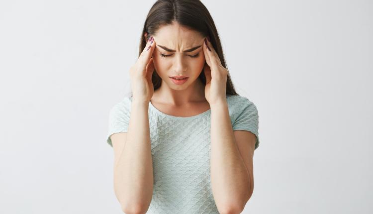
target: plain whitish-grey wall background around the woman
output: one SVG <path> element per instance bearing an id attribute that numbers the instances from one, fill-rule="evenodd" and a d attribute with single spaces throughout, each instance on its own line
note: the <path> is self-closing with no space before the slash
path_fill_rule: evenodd
<path id="1" fill-rule="evenodd" d="M 153 2 L 0 2 L 0 213 L 122 213 L 108 113 Z M 372 1 L 202 2 L 259 111 L 243 213 L 372 213 Z"/>

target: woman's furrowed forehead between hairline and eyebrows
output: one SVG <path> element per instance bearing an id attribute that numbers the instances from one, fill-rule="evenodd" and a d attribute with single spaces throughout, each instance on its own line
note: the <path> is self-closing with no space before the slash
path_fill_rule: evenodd
<path id="1" fill-rule="evenodd" d="M 200 45 L 203 36 L 195 30 L 188 29 L 180 24 L 173 23 L 160 27 L 154 35 L 157 44 L 166 45 L 169 48 L 189 48 Z"/>

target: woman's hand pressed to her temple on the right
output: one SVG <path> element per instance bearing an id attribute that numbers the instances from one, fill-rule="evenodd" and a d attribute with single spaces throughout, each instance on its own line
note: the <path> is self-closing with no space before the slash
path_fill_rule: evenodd
<path id="1" fill-rule="evenodd" d="M 218 54 L 206 38 L 204 39 L 203 52 L 206 60 L 203 67 L 206 76 L 204 90 L 206 100 L 210 105 L 226 102 L 228 70 L 221 65 Z"/>

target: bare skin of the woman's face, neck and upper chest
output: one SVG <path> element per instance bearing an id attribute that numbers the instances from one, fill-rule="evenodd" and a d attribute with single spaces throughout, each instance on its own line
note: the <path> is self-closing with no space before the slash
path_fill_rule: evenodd
<path id="1" fill-rule="evenodd" d="M 205 98 L 205 87 L 198 78 L 206 62 L 203 53 L 205 37 L 176 22 L 161 27 L 153 37 L 156 42 L 152 54 L 153 64 L 162 78 L 161 87 L 151 99 L 153 106 L 175 116 L 192 116 L 208 110 L 210 106 Z M 200 47 L 184 52 L 197 46 Z M 170 78 L 172 76 L 187 76 L 188 80 L 182 85 L 176 85 Z"/>

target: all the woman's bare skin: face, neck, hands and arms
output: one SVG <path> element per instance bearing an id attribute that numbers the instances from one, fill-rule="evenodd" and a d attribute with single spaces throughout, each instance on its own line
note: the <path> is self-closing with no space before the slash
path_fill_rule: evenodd
<path id="1" fill-rule="evenodd" d="M 175 52 L 166 52 L 157 44 Z M 188 54 L 183 53 L 198 45 L 202 47 Z M 173 56 L 161 58 L 161 53 Z M 200 54 L 197 58 L 188 56 L 197 53 Z M 155 92 L 151 82 L 154 69 L 163 81 Z M 197 79 L 202 69 L 206 75 L 206 86 Z M 149 102 L 158 104 L 159 109 L 166 113 L 179 114 L 185 108 L 189 112 L 194 109 L 194 115 L 205 110 L 207 101 L 211 109 L 210 174 L 213 197 L 219 213 L 241 213 L 254 188 L 256 136 L 249 131 L 232 129 L 226 101 L 228 71 L 221 65 L 211 43 L 197 32 L 178 24 L 163 26 L 130 68 L 130 75 L 133 101 L 128 132 L 115 133 L 111 137 L 115 155 L 114 190 L 123 211 L 146 213 L 152 198 Z M 175 75 L 185 75 L 189 79 L 183 85 L 175 85 L 169 78 Z"/>

